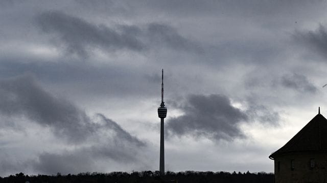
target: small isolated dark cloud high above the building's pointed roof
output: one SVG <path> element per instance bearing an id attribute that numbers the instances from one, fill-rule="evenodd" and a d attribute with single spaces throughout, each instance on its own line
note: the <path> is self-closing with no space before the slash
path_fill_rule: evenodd
<path id="1" fill-rule="evenodd" d="M 300 93 L 316 93 L 317 88 L 306 76 L 301 74 L 284 75 L 281 79 L 281 84 L 284 87 L 291 88 Z"/>

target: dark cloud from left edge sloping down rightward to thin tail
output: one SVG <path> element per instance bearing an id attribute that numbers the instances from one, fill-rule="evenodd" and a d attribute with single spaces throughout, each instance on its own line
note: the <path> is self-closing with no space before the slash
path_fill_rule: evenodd
<path id="1" fill-rule="evenodd" d="M 69 142 L 81 142 L 101 129 L 110 129 L 120 139 L 144 145 L 102 114 L 98 114 L 102 123 L 93 123 L 84 111 L 72 103 L 45 92 L 31 76 L 0 80 L 0 94 L 0 113 L 26 116 L 50 127 L 58 137 L 64 137 Z"/>

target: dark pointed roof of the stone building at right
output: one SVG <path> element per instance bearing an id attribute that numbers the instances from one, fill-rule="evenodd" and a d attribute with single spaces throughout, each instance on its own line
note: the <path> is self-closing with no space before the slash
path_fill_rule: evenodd
<path id="1" fill-rule="evenodd" d="M 299 151 L 327 151 L 327 119 L 320 113 L 269 158 Z"/>

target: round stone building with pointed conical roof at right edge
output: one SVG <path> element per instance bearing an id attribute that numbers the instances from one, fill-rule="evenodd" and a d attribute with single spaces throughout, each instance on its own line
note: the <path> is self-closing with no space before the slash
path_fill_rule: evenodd
<path id="1" fill-rule="evenodd" d="M 327 119 L 318 114 L 283 147 L 274 160 L 275 183 L 327 182 Z"/>

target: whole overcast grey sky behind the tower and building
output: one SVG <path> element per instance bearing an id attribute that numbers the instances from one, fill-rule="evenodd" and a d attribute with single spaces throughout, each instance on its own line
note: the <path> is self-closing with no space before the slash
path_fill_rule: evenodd
<path id="1" fill-rule="evenodd" d="M 0 1 L 0 176 L 273 172 L 327 115 L 325 1 Z"/>

